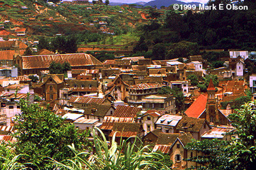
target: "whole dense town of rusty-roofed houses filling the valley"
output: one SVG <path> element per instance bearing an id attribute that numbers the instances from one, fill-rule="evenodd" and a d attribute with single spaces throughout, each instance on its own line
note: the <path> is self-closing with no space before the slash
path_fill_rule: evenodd
<path id="1" fill-rule="evenodd" d="M 186 63 L 173 60 L 151 60 L 144 57 L 123 57 L 100 62 L 86 53 L 54 54 L 41 50 L 34 56 L 23 56 L 19 41 L 0 42 L 0 139 L 15 141 L 10 134 L 12 118 L 20 113 L 19 99 L 50 104 L 56 115 L 81 130 L 99 127 L 117 142 L 135 136 L 154 151 L 170 155 L 175 167 L 196 166 L 184 159 L 200 155 L 184 146 L 191 139 L 223 139 L 235 131 L 228 115 L 230 108 L 221 108 L 221 101 L 244 96 L 248 89 L 242 80 L 244 60 L 248 52 L 230 52 L 226 67 L 206 70 L 202 56 L 190 56 Z M 51 62 L 69 62 L 67 74 L 49 74 Z M 205 66 L 206 65 L 206 66 Z M 195 74 L 202 81 L 205 74 L 217 74 L 219 87 L 210 80 L 207 93 L 191 86 L 188 76 Z M 32 82 L 29 76 L 37 76 Z M 241 80 L 238 80 L 238 79 Z M 252 86 L 251 86 L 252 84 Z M 175 96 L 159 94 L 163 87 L 178 88 L 184 95 L 185 110 L 177 111 Z M 250 76 L 250 89 L 255 92 L 256 76 Z M 40 99 L 41 98 L 41 99 Z"/>

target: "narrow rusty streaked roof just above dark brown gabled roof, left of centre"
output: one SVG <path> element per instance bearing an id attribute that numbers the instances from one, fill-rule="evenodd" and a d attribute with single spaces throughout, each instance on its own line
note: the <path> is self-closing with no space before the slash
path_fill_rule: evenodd
<path id="1" fill-rule="evenodd" d="M 102 104 L 106 99 L 97 97 L 84 97 L 84 96 L 72 96 L 68 103 L 83 103 L 83 104 Z"/>

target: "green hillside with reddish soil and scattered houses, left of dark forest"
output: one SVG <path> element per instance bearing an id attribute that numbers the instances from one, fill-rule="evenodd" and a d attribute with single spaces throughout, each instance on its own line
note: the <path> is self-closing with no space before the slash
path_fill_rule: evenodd
<path id="1" fill-rule="evenodd" d="M 148 22 L 141 15 L 141 9 L 104 4 L 50 6 L 42 1 L 2 0 L 0 9 L 0 24 L 4 29 L 14 33 L 16 27 L 26 28 L 28 37 L 68 35 L 81 31 L 123 34 L 140 23 Z"/>

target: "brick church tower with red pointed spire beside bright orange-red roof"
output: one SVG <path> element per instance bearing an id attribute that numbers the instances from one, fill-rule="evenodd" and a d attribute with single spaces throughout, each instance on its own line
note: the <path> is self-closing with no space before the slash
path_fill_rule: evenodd
<path id="1" fill-rule="evenodd" d="M 206 120 L 216 125 L 219 122 L 219 113 L 215 99 L 215 87 L 212 83 L 212 79 L 210 80 L 209 87 L 207 88 L 207 93 Z"/>

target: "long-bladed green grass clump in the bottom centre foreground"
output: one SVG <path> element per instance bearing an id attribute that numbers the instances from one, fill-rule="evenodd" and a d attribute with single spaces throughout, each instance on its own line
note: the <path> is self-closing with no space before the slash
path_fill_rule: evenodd
<path id="1" fill-rule="evenodd" d="M 99 132 L 99 136 L 96 134 Z M 109 146 L 104 134 L 100 129 L 93 129 L 93 142 L 95 154 L 77 152 L 74 145 L 68 146 L 76 156 L 74 159 L 64 162 L 51 162 L 58 169 L 63 170 L 134 170 L 134 169 L 169 169 L 163 162 L 164 157 L 161 153 L 152 152 L 149 146 L 143 146 L 140 139 L 134 137 L 122 140 L 120 145 L 115 141 L 115 134 Z"/>

